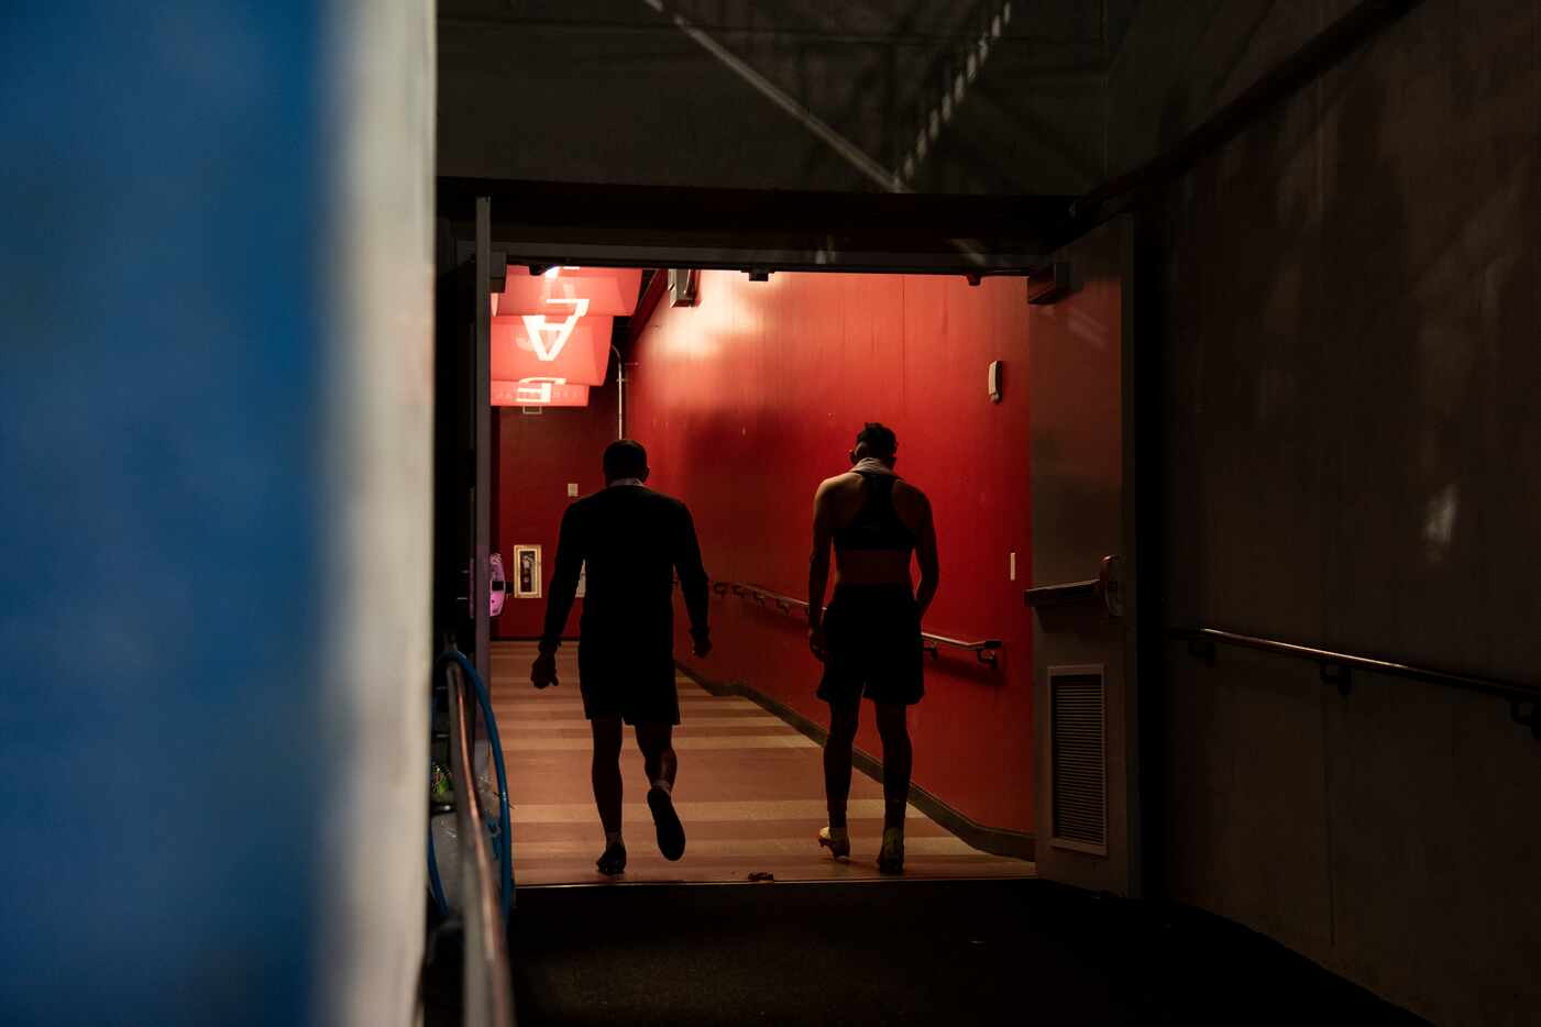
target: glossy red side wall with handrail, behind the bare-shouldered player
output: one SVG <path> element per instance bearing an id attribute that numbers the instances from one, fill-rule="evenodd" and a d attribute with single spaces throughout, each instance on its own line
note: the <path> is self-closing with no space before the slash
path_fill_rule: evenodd
<path id="1" fill-rule="evenodd" d="M 915 782 L 991 827 L 1032 830 L 1026 302 L 1020 279 L 701 276 L 697 308 L 641 333 L 627 430 L 658 488 L 695 514 L 707 573 L 803 596 L 814 488 L 848 468 L 866 420 L 898 433 L 900 474 L 931 497 L 942 590 L 926 630 L 1005 641 L 1000 670 L 928 661 L 911 711 Z M 1005 400 L 986 396 L 1003 360 Z M 1017 580 L 1008 580 L 1008 553 Z M 692 661 L 828 724 L 800 617 L 712 600 L 717 651 Z M 681 617 L 683 622 L 683 617 Z M 681 654 L 686 647 L 676 647 Z M 871 713 L 858 745 L 880 753 Z"/>

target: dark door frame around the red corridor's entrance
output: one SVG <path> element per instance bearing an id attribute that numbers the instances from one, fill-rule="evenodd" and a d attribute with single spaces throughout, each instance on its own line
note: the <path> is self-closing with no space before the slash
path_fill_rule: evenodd
<path id="1" fill-rule="evenodd" d="M 848 194 L 672 186 L 552 183 L 493 179 L 438 180 L 441 236 L 475 240 L 476 289 L 509 265 L 692 266 L 737 271 L 1029 277 L 1053 266 L 1053 254 L 1099 225 L 1077 219 L 1071 196 Z M 1145 214 L 1125 214 L 1122 291 L 1122 556 L 1125 674 L 1128 696 L 1126 816 L 1130 895 L 1150 895 L 1151 864 L 1143 796 L 1157 770 L 1151 739 L 1160 681 L 1160 383 L 1159 353 L 1137 340 L 1159 339 L 1153 271 L 1154 231 Z M 482 271 L 487 274 L 482 274 Z M 442 277 L 442 276 L 441 276 Z M 442 309 L 442 308 L 441 308 Z M 484 328 L 485 322 L 485 328 Z M 490 376 L 490 308 L 479 303 L 476 382 Z M 442 337 L 442 336 L 441 336 Z M 487 394 L 487 390 L 478 396 Z M 485 580 L 490 551 L 490 406 L 476 403 L 473 514 L 475 562 Z M 479 584 L 478 582 L 478 584 Z M 473 591 L 472 594 L 481 594 Z M 1025 613 L 1025 616 L 1032 616 Z M 490 622 L 476 604 L 478 668 L 490 665 Z M 1046 839 L 1042 839 L 1046 841 Z"/>

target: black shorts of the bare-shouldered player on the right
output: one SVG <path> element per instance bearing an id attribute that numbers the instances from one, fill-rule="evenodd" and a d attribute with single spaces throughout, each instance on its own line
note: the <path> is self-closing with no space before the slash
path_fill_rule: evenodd
<path id="1" fill-rule="evenodd" d="M 824 611 L 818 697 L 914 705 L 925 694 L 920 607 L 909 585 L 837 585 Z"/>

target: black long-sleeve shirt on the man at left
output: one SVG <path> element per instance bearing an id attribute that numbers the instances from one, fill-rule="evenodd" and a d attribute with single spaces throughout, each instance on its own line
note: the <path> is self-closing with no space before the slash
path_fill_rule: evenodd
<path id="1" fill-rule="evenodd" d="M 690 631 L 707 633 L 706 568 L 686 505 L 643 485 L 613 485 L 567 508 L 546 597 L 542 651 L 561 642 L 586 564 L 579 642 L 587 654 L 667 657 L 672 674 L 675 571 Z"/>

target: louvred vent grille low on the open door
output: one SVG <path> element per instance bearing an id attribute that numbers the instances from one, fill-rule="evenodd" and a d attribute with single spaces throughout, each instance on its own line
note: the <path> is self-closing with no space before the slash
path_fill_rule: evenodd
<path id="1" fill-rule="evenodd" d="M 1049 844 L 1099 856 L 1108 855 L 1105 710 L 1100 667 L 1049 668 Z"/>

